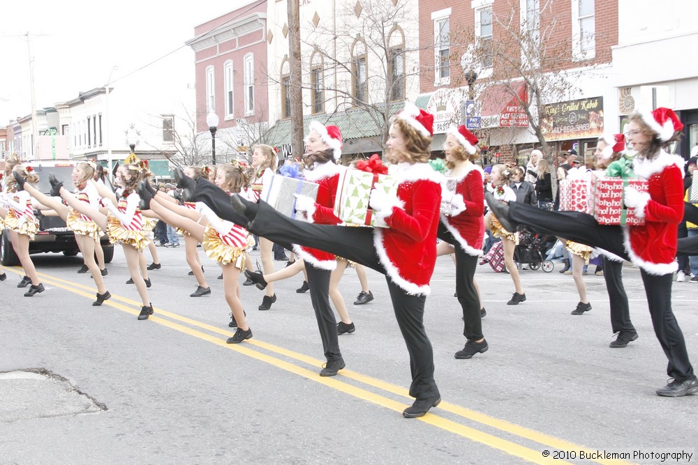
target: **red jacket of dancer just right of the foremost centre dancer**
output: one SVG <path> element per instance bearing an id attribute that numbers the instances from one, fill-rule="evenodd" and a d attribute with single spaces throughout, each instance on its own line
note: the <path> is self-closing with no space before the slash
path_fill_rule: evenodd
<path id="1" fill-rule="evenodd" d="M 456 195 L 462 197 L 466 210 L 455 216 L 441 214 L 441 222 L 453 234 L 464 252 L 474 257 L 482 254 L 484 238 L 484 190 L 482 168 L 470 165 L 456 176 Z"/>

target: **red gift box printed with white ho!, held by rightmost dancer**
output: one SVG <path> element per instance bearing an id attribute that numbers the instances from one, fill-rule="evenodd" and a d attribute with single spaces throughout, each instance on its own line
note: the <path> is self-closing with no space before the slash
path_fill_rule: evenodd
<path id="1" fill-rule="evenodd" d="M 644 179 L 594 177 L 591 183 L 590 195 L 593 197 L 594 218 L 599 224 L 644 224 L 637 218 L 634 208 L 625 208 L 623 189 L 630 186 L 639 192 L 647 192 L 647 181 Z"/>

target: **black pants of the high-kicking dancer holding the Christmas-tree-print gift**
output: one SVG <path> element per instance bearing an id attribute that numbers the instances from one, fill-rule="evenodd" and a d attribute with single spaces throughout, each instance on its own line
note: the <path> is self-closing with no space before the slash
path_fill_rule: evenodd
<path id="1" fill-rule="evenodd" d="M 372 228 L 311 224 L 281 215 L 265 201 L 260 201 L 258 204 L 246 201 L 245 204 L 246 217 L 250 220 L 246 227 L 253 234 L 285 246 L 294 243 L 325 250 L 386 274 L 373 244 Z M 225 215 L 226 208 L 217 210 L 214 205 L 209 207 L 223 220 L 235 222 L 236 218 L 239 219 L 239 214 Z M 314 277 L 309 274 L 308 285 L 311 289 L 313 279 Z M 417 398 L 438 395 L 436 381 L 433 379 L 433 349 L 424 330 L 426 297 L 410 295 L 389 277 L 386 276 L 386 279 L 395 319 L 410 354 L 410 371 L 412 372 L 410 395 Z M 329 287 L 326 289 L 329 294 Z M 336 332 L 336 326 L 334 330 Z"/>

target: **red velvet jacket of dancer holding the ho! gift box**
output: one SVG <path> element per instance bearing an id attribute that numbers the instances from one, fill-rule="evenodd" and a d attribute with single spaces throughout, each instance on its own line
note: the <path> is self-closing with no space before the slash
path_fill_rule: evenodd
<path id="1" fill-rule="evenodd" d="M 625 250 L 634 265 L 651 275 L 676 271 L 676 238 L 683 219 L 683 158 L 662 151 L 653 160 L 634 160 L 635 174 L 646 178 L 649 195 L 636 211 L 645 224 L 623 228 Z"/>

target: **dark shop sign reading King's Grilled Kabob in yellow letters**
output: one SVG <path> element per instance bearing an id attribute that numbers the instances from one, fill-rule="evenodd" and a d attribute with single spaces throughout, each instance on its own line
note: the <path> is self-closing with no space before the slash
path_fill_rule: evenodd
<path id="1" fill-rule="evenodd" d="M 548 140 L 585 139 L 604 133 L 603 97 L 543 105 L 541 129 Z"/>

